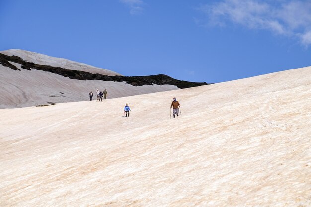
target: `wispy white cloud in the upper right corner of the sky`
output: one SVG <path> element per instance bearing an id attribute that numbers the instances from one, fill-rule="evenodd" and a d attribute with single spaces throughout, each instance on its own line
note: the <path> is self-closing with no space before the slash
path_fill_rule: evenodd
<path id="1" fill-rule="evenodd" d="M 233 23 L 250 29 L 266 29 L 277 35 L 298 38 L 311 44 L 310 0 L 223 0 L 199 7 L 210 25 Z"/>

